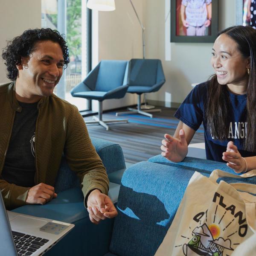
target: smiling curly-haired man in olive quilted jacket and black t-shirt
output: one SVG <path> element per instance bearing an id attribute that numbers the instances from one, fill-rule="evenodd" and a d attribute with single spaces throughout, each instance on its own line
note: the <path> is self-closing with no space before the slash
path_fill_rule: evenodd
<path id="1" fill-rule="evenodd" d="M 9 42 L 2 57 L 13 81 L 0 86 L 0 189 L 7 209 L 56 198 L 64 153 L 81 180 L 90 220 L 115 217 L 108 176 L 82 116 L 53 94 L 69 63 L 64 38 L 52 29 L 29 29 Z"/>

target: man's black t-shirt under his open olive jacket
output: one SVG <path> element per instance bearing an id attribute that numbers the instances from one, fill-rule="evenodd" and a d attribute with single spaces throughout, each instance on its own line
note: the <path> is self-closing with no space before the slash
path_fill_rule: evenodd
<path id="1" fill-rule="evenodd" d="M 15 113 L 12 136 L 2 171 L 2 179 L 18 186 L 35 186 L 35 125 L 37 102 L 19 102 L 21 112 Z"/>

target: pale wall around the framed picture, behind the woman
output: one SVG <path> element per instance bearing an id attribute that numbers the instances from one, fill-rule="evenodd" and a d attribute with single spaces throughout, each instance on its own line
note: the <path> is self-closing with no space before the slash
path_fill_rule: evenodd
<path id="1" fill-rule="evenodd" d="M 166 76 L 163 87 L 157 93 L 148 93 L 147 98 L 165 102 L 171 94 L 171 101 L 180 103 L 192 90 L 192 83 L 206 81 L 213 73 L 210 65 L 213 44 L 170 43 L 169 9 L 166 10 L 169 2 L 145 0 L 146 58 L 160 58 Z M 219 1 L 219 30 L 236 25 L 235 2 Z"/>

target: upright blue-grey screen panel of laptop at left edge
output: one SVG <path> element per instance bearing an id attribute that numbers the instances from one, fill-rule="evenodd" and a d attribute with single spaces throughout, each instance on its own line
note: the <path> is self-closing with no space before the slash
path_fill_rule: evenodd
<path id="1" fill-rule="evenodd" d="M 17 256 L 17 251 L 12 237 L 12 230 L 9 218 L 3 203 L 2 193 L 0 192 L 0 248 L 1 255 Z"/>

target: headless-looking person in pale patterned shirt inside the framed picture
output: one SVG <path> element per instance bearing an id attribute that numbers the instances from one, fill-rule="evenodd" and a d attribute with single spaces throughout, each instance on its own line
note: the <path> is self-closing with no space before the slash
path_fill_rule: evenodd
<path id="1" fill-rule="evenodd" d="M 186 35 L 203 36 L 206 28 L 211 25 L 212 0 L 182 0 L 180 15 L 186 27 Z"/>

